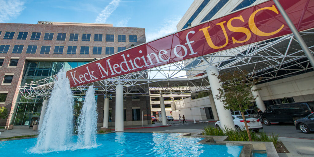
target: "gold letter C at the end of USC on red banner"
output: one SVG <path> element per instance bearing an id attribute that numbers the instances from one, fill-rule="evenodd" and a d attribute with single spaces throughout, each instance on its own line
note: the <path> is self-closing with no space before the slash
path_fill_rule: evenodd
<path id="1" fill-rule="evenodd" d="M 262 36 L 262 37 L 266 37 L 266 36 L 271 36 L 271 35 L 274 35 L 276 33 L 278 33 L 283 27 L 284 25 L 282 25 L 279 29 L 277 29 L 276 31 L 274 32 L 270 32 L 270 33 L 266 33 L 266 32 L 262 32 L 261 30 L 259 30 L 256 25 L 255 25 L 255 22 L 254 22 L 254 17 L 255 15 L 257 14 L 257 12 L 261 11 L 261 10 L 271 10 L 273 12 L 276 12 L 277 14 L 279 14 L 278 10 L 276 9 L 276 7 L 273 5 L 272 7 L 263 7 L 263 8 L 260 8 L 258 9 L 257 11 L 253 12 L 249 18 L 249 27 L 251 29 L 251 31 L 258 35 L 258 36 Z"/>

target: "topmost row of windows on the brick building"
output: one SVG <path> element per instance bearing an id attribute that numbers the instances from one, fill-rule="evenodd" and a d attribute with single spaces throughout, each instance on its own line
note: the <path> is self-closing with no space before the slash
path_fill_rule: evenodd
<path id="1" fill-rule="evenodd" d="M 3 39 L 13 39 L 15 32 L 5 32 Z M 0 31 L 1 35 L 1 31 Z M 16 40 L 26 40 L 28 32 L 19 32 Z M 54 33 L 45 33 L 43 40 L 52 40 Z M 67 33 L 57 33 L 57 41 L 65 41 Z M 82 41 L 90 41 L 91 34 L 82 34 Z M 32 32 L 30 40 L 39 40 L 41 32 Z M 106 42 L 114 42 L 114 34 L 106 34 Z M 78 33 L 70 33 L 69 41 L 78 41 Z M 118 42 L 126 42 L 126 35 L 118 35 Z M 94 34 L 94 42 L 102 42 L 102 34 Z M 137 42 L 137 35 L 129 35 L 129 42 Z"/>

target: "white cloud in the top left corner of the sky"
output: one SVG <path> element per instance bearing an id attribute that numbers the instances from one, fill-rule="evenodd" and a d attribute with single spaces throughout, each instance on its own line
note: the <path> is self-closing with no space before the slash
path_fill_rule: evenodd
<path id="1" fill-rule="evenodd" d="M 0 22 L 6 22 L 19 16 L 23 9 L 24 2 L 19 0 L 0 0 Z"/>

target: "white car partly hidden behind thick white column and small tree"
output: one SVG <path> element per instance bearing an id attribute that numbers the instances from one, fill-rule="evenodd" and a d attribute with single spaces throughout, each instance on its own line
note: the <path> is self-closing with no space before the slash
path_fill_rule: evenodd
<path id="1" fill-rule="evenodd" d="M 235 123 L 236 130 L 246 130 L 244 120 L 242 115 L 232 115 L 233 122 Z M 248 125 L 248 128 L 253 130 L 254 132 L 258 132 L 263 129 L 263 125 L 257 118 L 252 118 L 245 115 L 245 120 Z M 216 128 L 221 128 L 220 120 L 215 123 Z"/>

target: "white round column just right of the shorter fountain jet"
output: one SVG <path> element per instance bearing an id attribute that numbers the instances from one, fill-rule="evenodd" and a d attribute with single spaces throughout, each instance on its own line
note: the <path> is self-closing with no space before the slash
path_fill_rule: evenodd
<path id="1" fill-rule="evenodd" d="M 123 131 L 123 86 L 116 86 L 116 131 Z"/>

